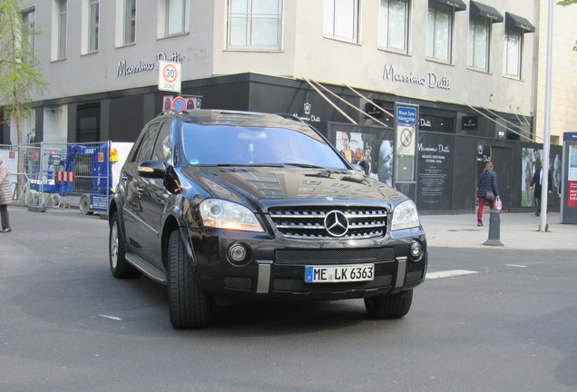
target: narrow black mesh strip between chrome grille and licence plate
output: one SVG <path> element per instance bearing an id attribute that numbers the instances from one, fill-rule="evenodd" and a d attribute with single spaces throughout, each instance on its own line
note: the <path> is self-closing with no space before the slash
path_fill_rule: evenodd
<path id="1" fill-rule="evenodd" d="M 393 260 L 393 248 L 275 250 L 275 263 L 283 265 L 367 264 Z"/>

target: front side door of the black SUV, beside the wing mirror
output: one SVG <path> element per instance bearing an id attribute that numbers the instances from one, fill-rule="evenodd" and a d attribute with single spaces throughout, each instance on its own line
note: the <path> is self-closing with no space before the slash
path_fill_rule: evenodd
<path id="1" fill-rule="evenodd" d="M 170 162 L 171 140 L 170 125 L 160 123 L 158 136 L 152 147 L 149 159 Z M 144 245 L 142 250 L 148 260 L 157 267 L 162 268 L 161 260 L 161 220 L 162 211 L 169 197 L 169 192 L 164 187 L 162 179 L 139 178 L 141 187 L 141 219 L 138 237 Z"/>

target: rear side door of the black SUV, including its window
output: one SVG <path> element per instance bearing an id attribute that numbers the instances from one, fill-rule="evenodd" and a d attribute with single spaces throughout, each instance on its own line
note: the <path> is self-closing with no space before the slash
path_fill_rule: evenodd
<path id="1" fill-rule="evenodd" d="M 153 122 L 147 126 L 139 146 L 130 157 L 130 162 L 122 169 L 122 186 L 125 190 L 124 199 L 124 233 L 126 242 L 131 251 L 142 252 L 142 240 L 139 239 L 139 231 L 144 224 L 142 219 L 142 179 L 138 175 L 138 163 L 148 160 L 152 156 L 152 148 L 158 136 L 159 122 Z"/>

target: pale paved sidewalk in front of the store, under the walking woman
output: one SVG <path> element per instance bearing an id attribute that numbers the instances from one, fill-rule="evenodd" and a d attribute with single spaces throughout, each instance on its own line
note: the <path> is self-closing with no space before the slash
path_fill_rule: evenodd
<path id="1" fill-rule="evenodd" d="M 499 225 L 503 246 L 487 246 L 489 212 L 484 226 L 477 227 L 475 213 L 459 215 L 420 215 L 426 240 L 432 247 L 495 248 L 518 250 L 577 250 L 577 225 L 562 224 L 559 212 L 547 214 L 547 232 L 539 231 L 541 218 L 533 212 L 501 213 Z"/>

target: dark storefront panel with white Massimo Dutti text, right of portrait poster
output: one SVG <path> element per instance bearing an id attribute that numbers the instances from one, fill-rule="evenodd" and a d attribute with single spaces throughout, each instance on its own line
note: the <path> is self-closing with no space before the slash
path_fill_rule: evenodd
<path id="1" fill-rule="evenodd" d="M 416 145 L 418 209 L 451 210 L 454 150 L 455 138 L 452 135 L 425 132 L 419 135 Z"/>

